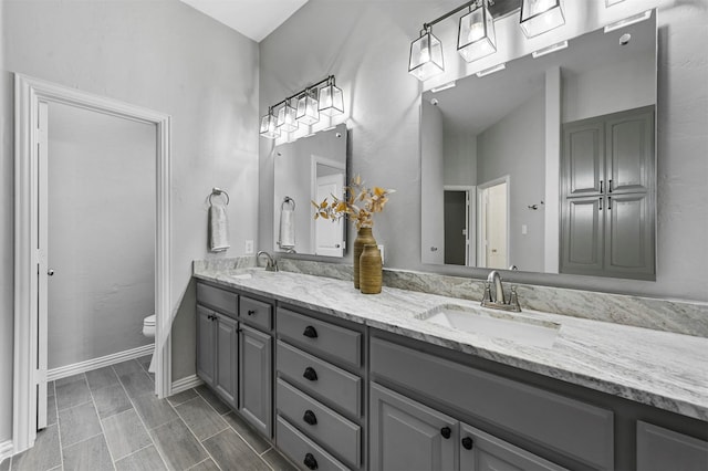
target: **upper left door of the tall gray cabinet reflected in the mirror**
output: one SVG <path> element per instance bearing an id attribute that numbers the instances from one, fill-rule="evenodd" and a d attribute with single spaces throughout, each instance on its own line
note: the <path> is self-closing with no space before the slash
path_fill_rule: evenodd
<path id="1" fill-rule="evenodd" d="M 604 123 L 592 118 L 563 126 L 563 193 L 600 195 L 604 188 Z"/>

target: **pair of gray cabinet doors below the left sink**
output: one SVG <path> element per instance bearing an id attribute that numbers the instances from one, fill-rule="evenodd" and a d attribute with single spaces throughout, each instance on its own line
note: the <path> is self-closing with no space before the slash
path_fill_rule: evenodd
<path id="1" fill-rule="evenodd" d="M 238 322 L 197 306 L 197 375 L 237 407 Z"/>

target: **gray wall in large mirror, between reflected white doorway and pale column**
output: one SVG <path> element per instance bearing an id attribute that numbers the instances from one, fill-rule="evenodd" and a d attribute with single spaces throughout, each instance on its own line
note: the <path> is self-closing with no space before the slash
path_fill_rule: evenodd
<path id="1" fill-rule="evenodd" d="M 543 90 L 477 136 L 477 185 L 509 176 L 509 265 L 543 271 L 545 191 L 545 96 Z M 521 226 L 527 226 L 527 234 Z"/>

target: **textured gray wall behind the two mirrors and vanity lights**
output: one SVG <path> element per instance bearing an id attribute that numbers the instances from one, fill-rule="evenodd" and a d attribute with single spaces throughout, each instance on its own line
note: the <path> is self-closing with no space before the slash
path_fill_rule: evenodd
<path id="1" fill-rule="evenodd" d="M 421 23 L 449 11 L 449 2 L 407 2 L 406 8 L 393 1 L 334 3 L 309 1 L 261 42 L 261 114 L 266 113 L 268 103 L 277 103 L 321 75 L 335 74 L 337 84 L 352 101 L 348 126 L 354 172 L 397 189 L 374 227 L 377 241 L 387 244 L 386 265 L 486 276 L 487 270 L 419 262 L 421 86 L 407 73 L 408 51 Z M 612 11 L 631 14 L 656 4 L 660 7 L 657 280 L 534 273 L 513 273 L 508 278 L 537 284 L 708 301 L 708 251 L 701 250 L 708 238 L 708 186 L 705 185 L 708 175 L 705 158 L 708 154 L 708 64 L 705 61 L 708 9 L 699 1 L 626 3 Z M 597 8 L 604 9 L 604 6 Z M 596 21 L 598 17 L 585 18 Z M 312 41 L 312 31 L 326 40 Z M 446 61 L 455 69 L 450 55 Z M 444 83 L 445 78 L 441 80 Z M 260 149 L 259 207 L 267 217 L 260 221 L 259 247 L 268 248 L 270 236 L 264 234 L 272 234 L 272 178 L 268 177 L 272 161 L 264 139 Z M 344 262 L 351 263 L 351 254 Z"/>

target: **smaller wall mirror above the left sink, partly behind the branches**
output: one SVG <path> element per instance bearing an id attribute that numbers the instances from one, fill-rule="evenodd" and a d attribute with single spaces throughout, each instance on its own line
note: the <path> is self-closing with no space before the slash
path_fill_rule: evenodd
<path id="1" fill-rule="evenodd" d="M 343 195 L 346 125 L 277 146 L 273 167 L 273 250 L 343 257 L 344 221 L 313 219 L 311 201 Z"/>

